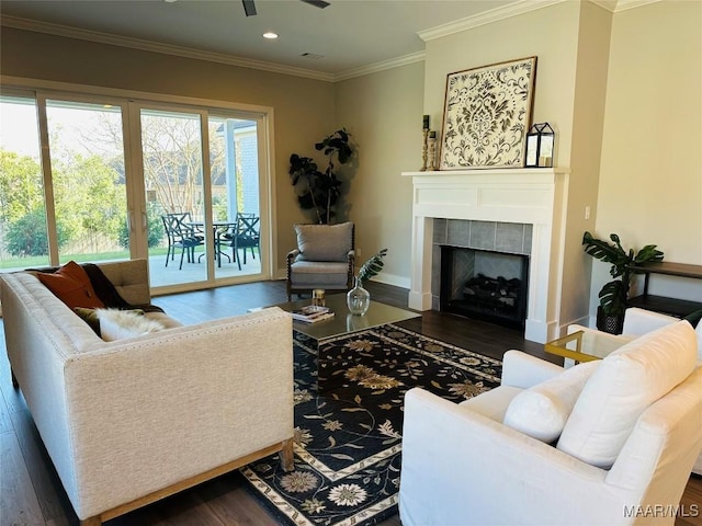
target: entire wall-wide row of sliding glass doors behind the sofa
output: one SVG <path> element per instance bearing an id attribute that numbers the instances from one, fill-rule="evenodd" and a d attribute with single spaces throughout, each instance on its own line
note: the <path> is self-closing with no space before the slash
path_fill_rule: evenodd
<path id="1" fill-rule="evenodd" d="M 263 114 L 4 90 L 0 123 L 0 271 L 147 258 L 163 291 L 270 277 Z"/>

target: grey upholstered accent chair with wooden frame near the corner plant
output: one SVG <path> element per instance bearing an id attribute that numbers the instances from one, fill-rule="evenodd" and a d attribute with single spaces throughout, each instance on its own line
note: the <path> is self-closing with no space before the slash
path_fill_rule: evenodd
<path id="1" fill-rule="evenodd" d="M 297 248 L 287 253 L 287 300 L 315 288 L 349 290 L 353 285 L 355 226 L 295 225 Z"/>

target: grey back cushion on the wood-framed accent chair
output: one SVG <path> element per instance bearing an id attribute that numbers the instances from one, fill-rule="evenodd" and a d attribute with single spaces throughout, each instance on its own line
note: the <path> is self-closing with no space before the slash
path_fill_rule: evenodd
<path id="1" fill-rule="evenodd" d="M 303 261 L 347 261 L 352 249 L 352 222 L 340 225 L 295 225 L 299 259 Z"/>

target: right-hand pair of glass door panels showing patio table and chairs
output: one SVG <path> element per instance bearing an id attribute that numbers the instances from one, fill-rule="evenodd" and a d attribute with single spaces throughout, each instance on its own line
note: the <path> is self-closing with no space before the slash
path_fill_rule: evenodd
<path id="1" fill-rule="evenodd" d="M 260 275 L 257 121 L 162 107 L 139 118 L 151 284 Z"/>

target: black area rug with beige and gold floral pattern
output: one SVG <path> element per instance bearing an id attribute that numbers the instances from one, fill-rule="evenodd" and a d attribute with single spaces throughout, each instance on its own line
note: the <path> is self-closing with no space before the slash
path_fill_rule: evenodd
<path id="1" fill-rule="evenodd" d="M 371 525 L 396 514 L 405 392 L 460 402 L 501 375 L 500 361 L 388 324 L 325 340 L 346 366 L 318 395 L 316 342 L 294 340 L 295 470 L 278 456 L 240 470 L 281 524 Z"/>

